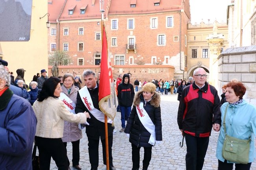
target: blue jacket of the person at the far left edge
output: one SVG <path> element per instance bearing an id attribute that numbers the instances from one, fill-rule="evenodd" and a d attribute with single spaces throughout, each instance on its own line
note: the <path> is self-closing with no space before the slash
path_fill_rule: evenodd
<path id="1" fill-rule="evenodd" d="M 32 170 L 37 120 L 31 104 L 9 89 L 0 96 L 0 169 Z"/>

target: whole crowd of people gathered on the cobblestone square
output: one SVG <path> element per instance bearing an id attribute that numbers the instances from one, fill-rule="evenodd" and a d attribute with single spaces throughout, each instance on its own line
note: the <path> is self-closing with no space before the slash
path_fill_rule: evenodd
<path id="1" fill-rule="evenodd" d="M 109 161 L 109 169 L 116 169 L 112 157 L 115 127 L 109 118 L 109 159 L 106 159 L 105 119 L 98 104 L 100 72 L 96 75 L 85 70 L 82 74 L 85 86 L 82 87 L 76 73 L 49 78 L 46 70 L 42 69 L 41 76 L 34 76 L 26 86 L 24 69 L 17 69 L 18 76 L 14 79 L 4 67 L 7 62 L 0 60 L 0 63 L 0 115 L 4 120 L 0 122 L 0 157 L 5 160 L 0 161 L 0 169 L 31 170 L 31 159 L 27 158 L 32 157 L 35 141 L 40 169 L 49 169 L 52 157 L 59 170 L 69 170 L 66 147 L 71 142 L 72 166 L 81 170 L 82 128 L 85 128 L 88 139 L 91 170 L 97 170 L 99 165 L 99 141 L 102 143 L 104 165 Z M 220 100 L 215 87 L 206 82 L 207 74 L 203 68 L 195 69 L 187 83 L 177 79 L 152 82 L 136 79 L 133 86 L 131 77 L 131 73 L 120 74 L 116 91 L 117 111 L 121 112 L 122 128 L 119 132 L 126 133 L 131 143 L 132 170 L 139 170 L 141 147 L 144 148 L 143 170 L 147 170 L 152 147 L 162 141 L 160 101 L 163 92 L 165 95 L 168 92 L 178 93 L 177 122 L 186 140 L 186 170 L 202 170 L 212 128 L 219 132 L 216 150 L 218 170 L 232 170 L 233 164 L 236 170 L 250 169 L 255 154 L 256 107 L 243 99 L 246 88 L 242 82 L 232 80 L 224 85 Z M 233 149 L 237 150 L 239 144 L 236 148 L 235 143 L 228 145 L 227 136 L 249 141 L 248 154 L 243 154 L 245 161 L 233 159 L 238 154 Z M 227 147 L 229 151 L 226 151 Z M 232 152 L 234 156 L 231 159 L 223 152 Z"/>

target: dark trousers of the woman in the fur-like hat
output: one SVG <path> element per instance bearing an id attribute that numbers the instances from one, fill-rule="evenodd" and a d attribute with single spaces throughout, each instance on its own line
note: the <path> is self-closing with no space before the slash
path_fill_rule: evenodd
<path id="1" fill-rule="evenodd" d="M 151 160 L 152 154 L 152 147 L 143 147 L 144 148 L 144 159 L 143 169 L 148 168 L 149 162 Z M 139 150 L 141 147 L 137 147 L 136 145 L 132 144 L 132 169 L 139 169 Z"/>

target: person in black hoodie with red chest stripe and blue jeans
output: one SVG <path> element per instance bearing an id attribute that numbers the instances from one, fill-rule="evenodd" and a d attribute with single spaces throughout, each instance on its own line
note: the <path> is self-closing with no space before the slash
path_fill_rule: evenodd
<path id="1" fill-rule="evenodd" d="M 117 91 L 117 98 L 119 100 L 122 122 L 122 128 L 119 132 L 124 132 L 125 115 L 126 117 L 129 117 L 132 110 L 131 107 L 135 95 L 134 86 L 130 84 L 130 76 L 128 74 L 124 74 L 124 76 L 122 77 L 122 83 L 119 84 Z"/>

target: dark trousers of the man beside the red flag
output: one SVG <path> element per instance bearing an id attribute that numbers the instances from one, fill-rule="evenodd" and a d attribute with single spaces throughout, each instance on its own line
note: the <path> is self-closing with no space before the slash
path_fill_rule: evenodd
<path id="1" fill-rule="evenodd" d="M 99 165 L 99 141 L 100 139 L 91 139 L 88 137 L 88 151 L 89 159 L 91 163 L 91 168 L 98 168 Z M 102 153 L 103 153 L 103 163 L 106 165 L 106 142 L 105 139 L 101 140 L 102 143 Z M 109 166 L 113 166 L 113 157 L 112 157 L 112 144 L 113 136 L 108 137 L 108 155 L 109 155 Z"/>

